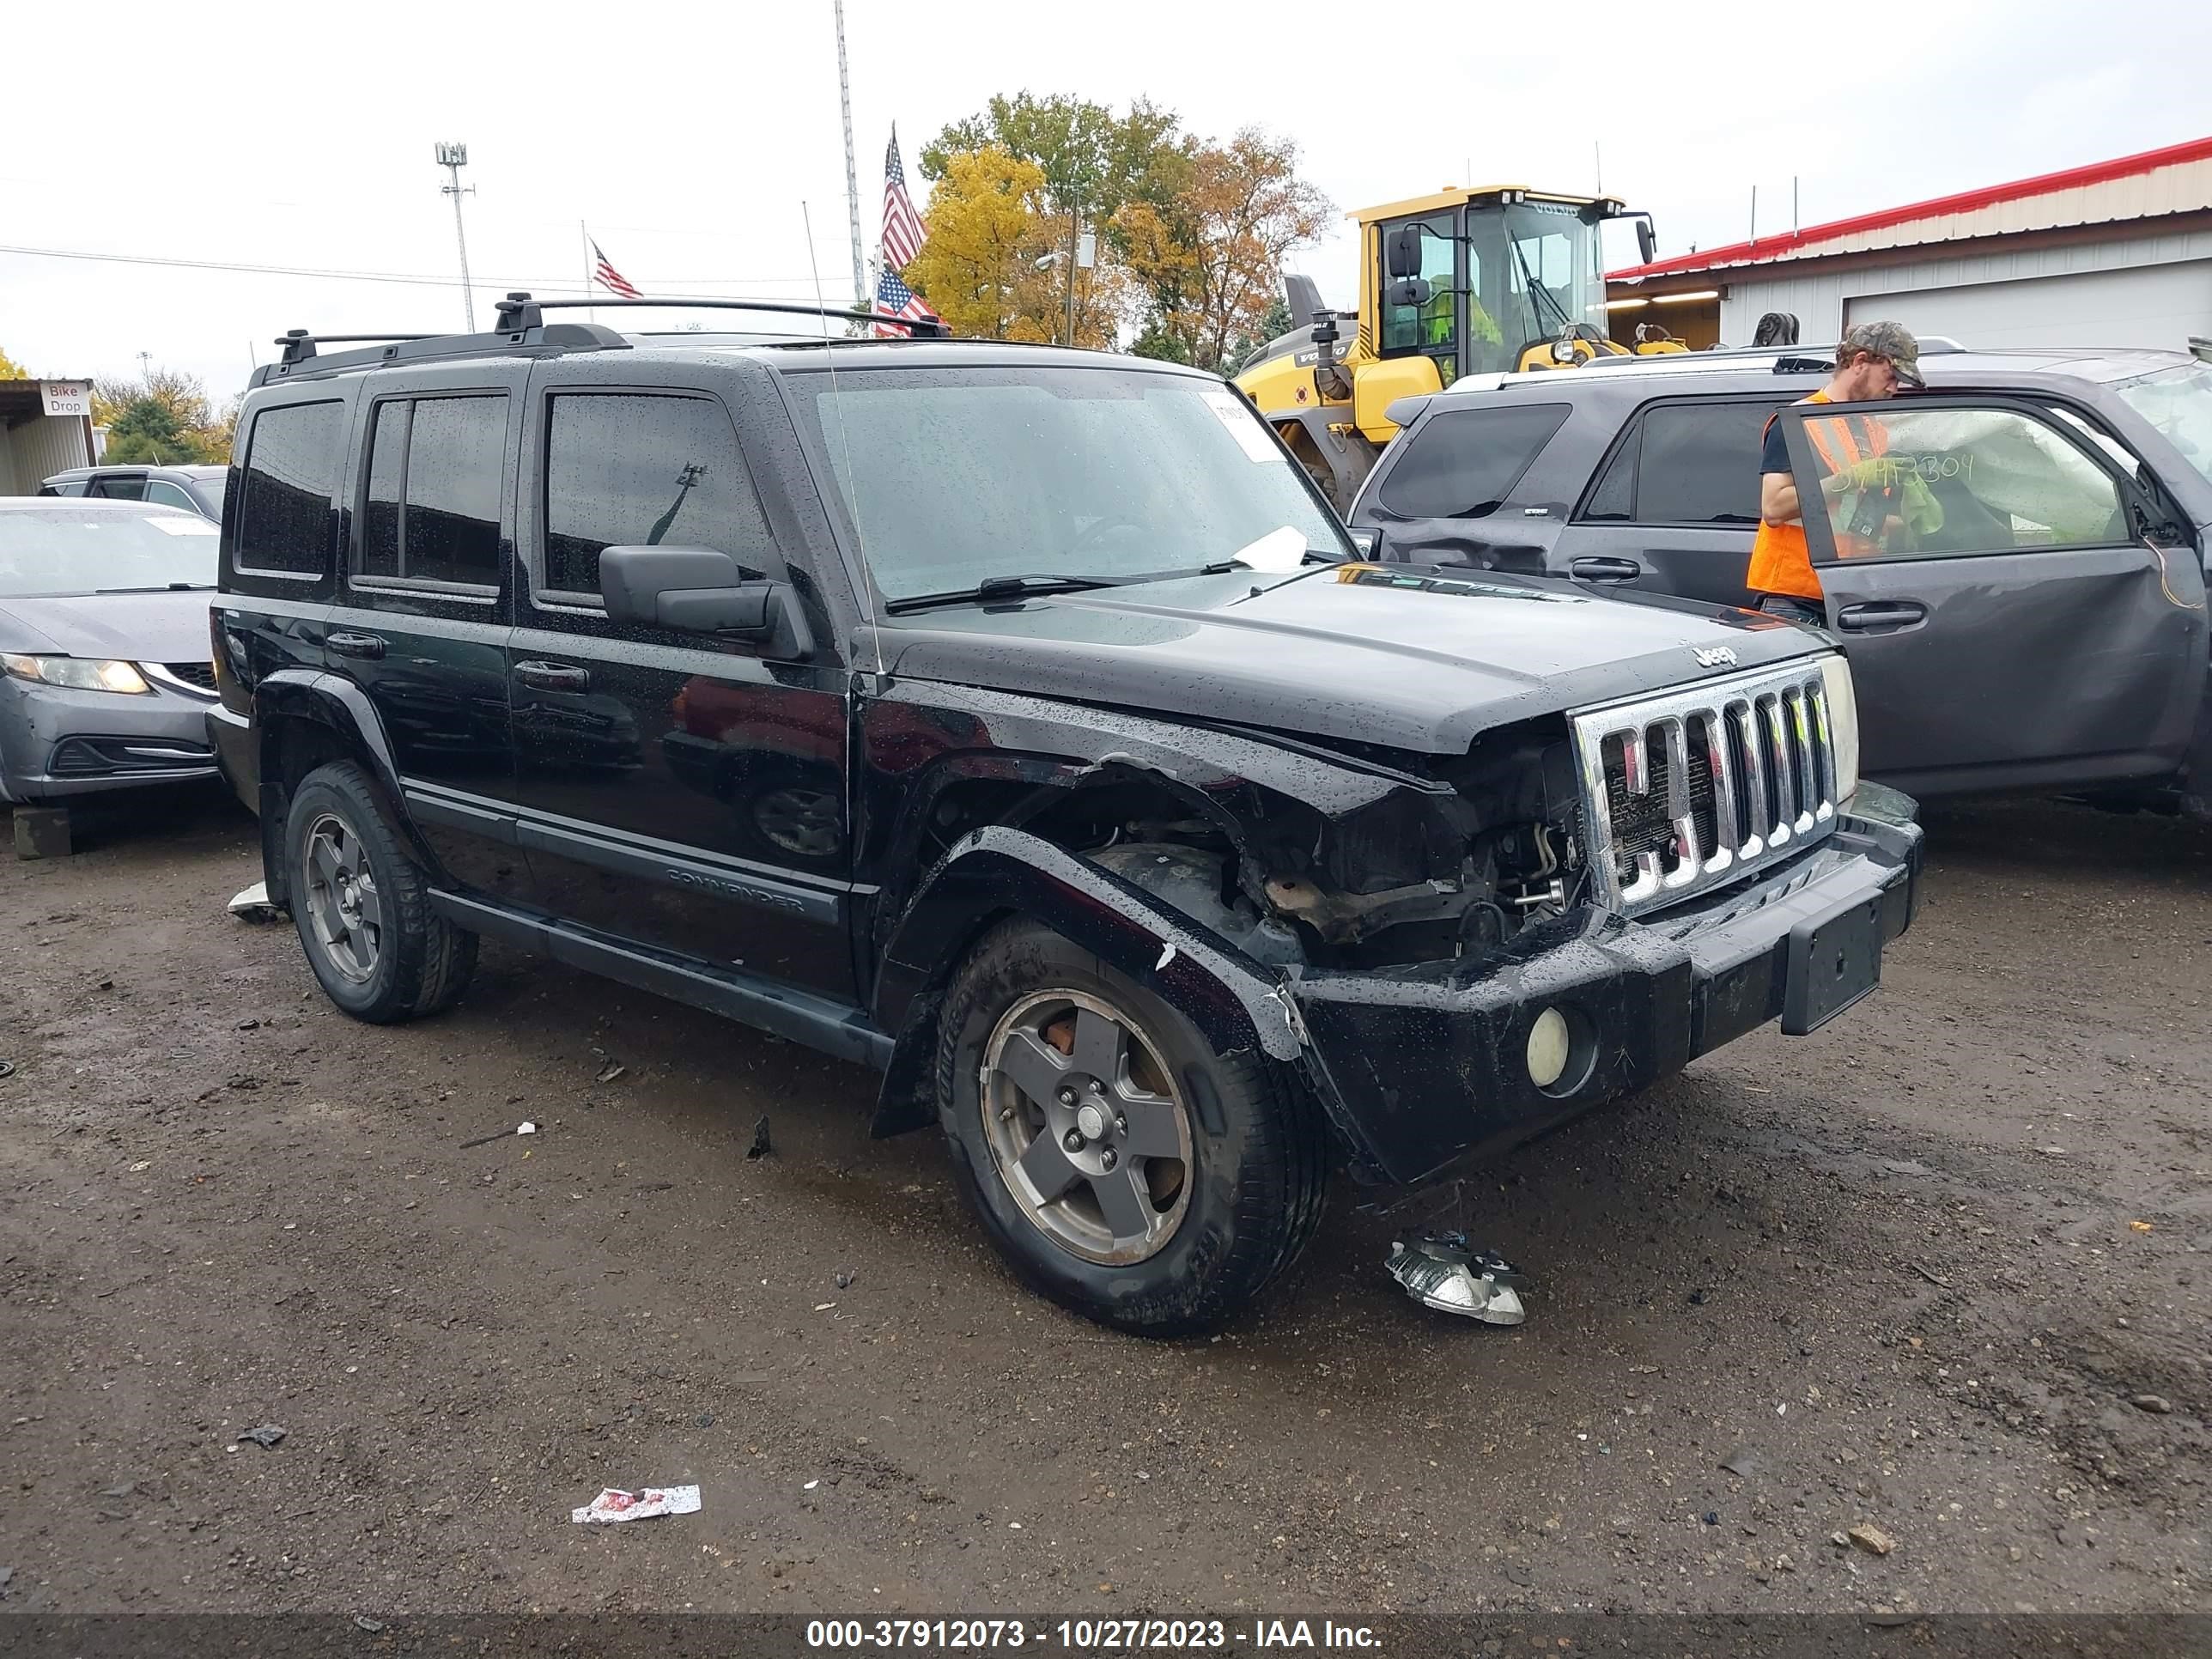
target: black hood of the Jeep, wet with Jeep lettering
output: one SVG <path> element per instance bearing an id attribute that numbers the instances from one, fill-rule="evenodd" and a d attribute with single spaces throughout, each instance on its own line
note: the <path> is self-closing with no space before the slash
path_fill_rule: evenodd
<path id="1" fill-rule="evenodd" d="M 1823 648 L 1754 611 L 1409 566 L 947 606 L 887 624 L 876 639 L 900 677 L 1416 754 L 1464 754 L 1495 726 Z"/>

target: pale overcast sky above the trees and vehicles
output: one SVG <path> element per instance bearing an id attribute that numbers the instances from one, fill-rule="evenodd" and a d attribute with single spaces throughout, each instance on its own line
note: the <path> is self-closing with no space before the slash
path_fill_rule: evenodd
<path id="1" fill-rule="evenodd" d="M 2212 128 L 2212 7 L 2181 0 L 849 0 L 845 27 L 869 246 L 891 124 L 920 199 L 922 142 L 1024 86 L 1290 133 L 1338 208 L 1469 173 L 1590 190 L 1601 155 L 1661 252 L 1741 239 L 1752 186 L 1785 228 L 1792 175 L 1816 223 Z M 511 285 L 577 292 L 584 221 L 648 292 L 807 299 L 805 204 L 825 292 L 852 285 L 830 0 L 46 0 L 9 9 L 0 46 L 0 243 L 431 279 L 0 252 L 0 347 L 40 376 L 135 374 L 144 352 L 230 396 L 285 327 L 460 327 L 436 139 L 469 146 L 480 325 Z M 1354 301 L 1343 232 L 1296 263 Z"/>

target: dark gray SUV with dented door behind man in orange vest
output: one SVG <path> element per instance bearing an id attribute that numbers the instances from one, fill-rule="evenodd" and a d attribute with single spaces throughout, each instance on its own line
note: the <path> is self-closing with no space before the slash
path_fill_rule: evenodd
<path id="1" fill-rule="evenodd" d="M 1871 540 L 1807 524 L 1867 774 L 2212 810 L 2212 365 L 1927 349 L 1927 392 L 1790 409 L 1829 367 L 1805 349 L 1462 378 L 1396 407 L 1352 522 L 1383 560 L 1747 604 L 1767 418 L 1787 411 L 1805 500 L 1827 473 L 1809 422 L 1874 420 L 1913 511 Z M 1838 557 L 1838 529 L 1863 555 Z"/>

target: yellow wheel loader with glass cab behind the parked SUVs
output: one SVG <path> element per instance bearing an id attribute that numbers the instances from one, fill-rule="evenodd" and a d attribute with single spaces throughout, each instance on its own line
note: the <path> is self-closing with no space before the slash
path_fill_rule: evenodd
<path id="1" fill-rule="evenodd" d="M 1462 374 L 1571 369 L 1630 356 L 1606 338 L 1599 226 L 1648 212 L 1606 197 L 1484 186 L 1360 208 L 1360 305 L 1332 312 L 1310 276 L 1285 276 L 1298 325 L 1254 352 L 1237 387 L 1283 434 L 1338 511 L 1398 431 L 1398 398 Z M 1349 327 L 1347 327 L 1349 325 Z M 1635 354 L 1681 352 L 1650 338 Z"/>

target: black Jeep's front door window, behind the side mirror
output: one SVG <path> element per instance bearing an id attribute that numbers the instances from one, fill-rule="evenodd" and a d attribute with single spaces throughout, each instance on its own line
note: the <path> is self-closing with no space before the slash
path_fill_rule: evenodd
<path id="1" fill-rule="evenodd" d="M 608 546 L 708 546 L 783 575 L 730 416 L 712 398 L 555 394 L 546 418 L 544 586 L 599 595 Z"/>

